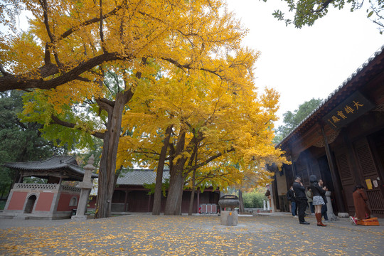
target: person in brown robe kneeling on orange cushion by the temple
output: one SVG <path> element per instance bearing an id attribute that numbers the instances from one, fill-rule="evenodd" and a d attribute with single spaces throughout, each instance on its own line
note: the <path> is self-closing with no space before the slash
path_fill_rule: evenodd
<path id="1" fill-rule="evenodd" d="M 363 186 L 360 184 L 358 186 L 355 186 L 353 188 L 353 204 L 355 205 L 355 217 L 350 217 L 351 222 L 354 225 L 357 225 L 357 220 L 365 220 L 370 218 L 370 210 L 367 205 L 368 197 L 366 196 L 366 193 L 363 191 Z"/>

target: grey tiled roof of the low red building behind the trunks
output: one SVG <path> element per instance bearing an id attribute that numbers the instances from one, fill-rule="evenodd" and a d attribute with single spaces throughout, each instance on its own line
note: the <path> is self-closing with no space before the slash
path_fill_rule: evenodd
<path id="1" fill-rule="evenodd" d="M 133 169 L 123 174 L 124 176 L 117 178 L 117 185 L 138 185 L 144 183 L 156 183 L 156 171 L 151 169 Z M 169 170 L 163 171 L 163 182 L 169 178 Z"/>

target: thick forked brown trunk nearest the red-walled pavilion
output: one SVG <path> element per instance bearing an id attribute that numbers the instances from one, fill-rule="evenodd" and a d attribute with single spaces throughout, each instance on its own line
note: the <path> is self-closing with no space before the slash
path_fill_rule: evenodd
<path id="1" fill-rule="evenodd" d="M 108 218 L 111 215 L 111 203 L 117 159 L 117 147 L 122 126 L 122 113 L 125 104 L 132 98 L 132 91 L 120 92 L 114 102 L 97 100 L 97 104 L 108 112 L 107 131 L 105 132 L 102 156 L 99 168 L 99 187 L 97 190 L 97 211 L 95 218 Z"/>

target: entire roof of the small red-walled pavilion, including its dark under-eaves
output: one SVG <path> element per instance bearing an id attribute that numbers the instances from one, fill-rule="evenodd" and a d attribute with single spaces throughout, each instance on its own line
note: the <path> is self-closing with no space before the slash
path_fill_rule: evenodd
<path id="1" fill-rule="evenodd" d="M 46 178 L 61 174 L 64 180 L 82 181 L 84 169 L 78 165 L 73 156 L 52 156 L 44 161 L 26 161 L 5 163 L 3 166 L 23 172 L 23 176 L 36 176 Z M 97 178 L 92 174 L 92 178 Z"/>

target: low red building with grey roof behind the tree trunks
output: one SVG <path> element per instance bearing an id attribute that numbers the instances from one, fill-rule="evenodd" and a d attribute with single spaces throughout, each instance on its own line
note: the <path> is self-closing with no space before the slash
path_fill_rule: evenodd
<path id="1" fill-rule="evenodd" d="M 163 183 L 169 179 L 169 170 L 164 170 Z M 149 195 L 149 189 L 144 184 L 154 184 L 156 182 L 156 172 L 149 169 L 133 169 L 127 171 L 123 176 L 117 178 L 117 187 L 112 196 L 112 213 L 151 213 L 154 196 Z M 198 189 L 193 199 L 193 213 L 199 212 L 199 207 L 203 206 L 203 212 L 210 209 L 208 213 L 213 213 L 220 199 L 220 191 L 213 188 L 206 188 L 203 192 Z M 191 201 L 191 190 L 183 191 L 181 213 L 188 213 L 189 202 Z M 161 212 L 164 213 L 166 198 L 161 196 Z M 205 207 L 208 206 L 208 207 Z M 210 206 L 213 206 L 210 208 Z M 90 203 L 92 207 L 92 203 Z"/>

